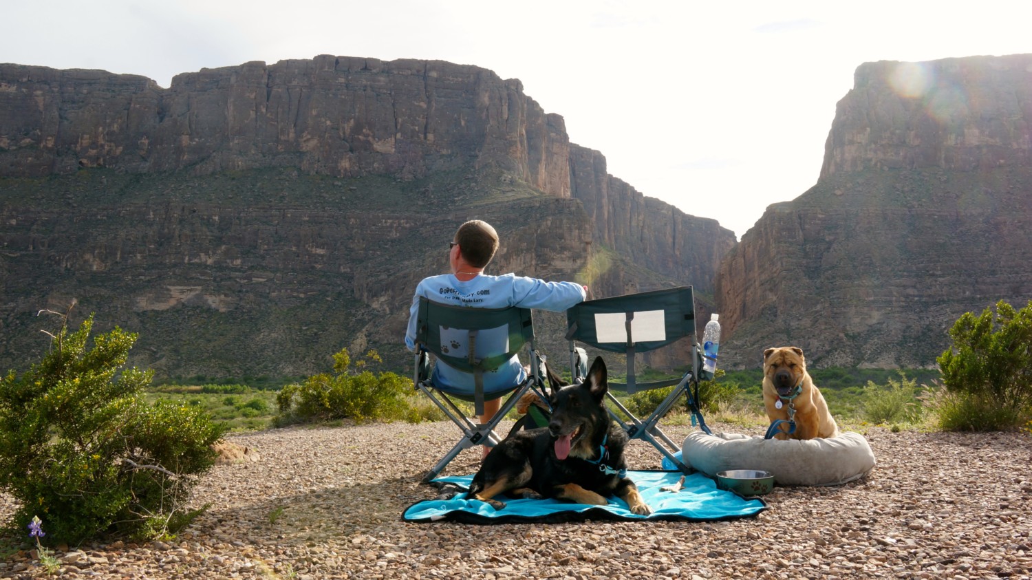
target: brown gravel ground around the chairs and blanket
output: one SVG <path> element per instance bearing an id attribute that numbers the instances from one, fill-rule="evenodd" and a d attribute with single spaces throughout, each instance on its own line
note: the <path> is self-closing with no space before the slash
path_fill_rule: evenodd
<path id="1" fill-rule="evenodd" d="M 742 432 L 731 425 L 714 431 Z M 688 427 L 670 427 L 675 441 Z M 878 465 L 836 487 L 775 487 L 730 522 L 406 523 L 450 423 L 238 434 L 260 460 L 218 465 L 207 512 L 173 541 L 59 550 L 61 578 L 1032 578 L 1032 437 L 865 433 Z M 762 434 L 756 430 L 752 434 Z M 633 469 L 658 469 L 642 442 Z M 476 471 L 464 451 L 447 474 Z M 0 517 L 11 512 L 0 500 Z M 45 523 L 44 523 L 45 529 Z M 0 578 L 42 575 L 31 552 Z"/>

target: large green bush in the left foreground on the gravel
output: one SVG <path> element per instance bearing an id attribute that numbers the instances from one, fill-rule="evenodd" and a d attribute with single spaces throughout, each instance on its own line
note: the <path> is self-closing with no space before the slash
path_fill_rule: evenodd
<path id="1" fill-rule="evenodd" d="M 64 320 L 41 362 L 0 379 L 0 489 L 18 500 L 12 523 L 38 515 L 47 541 L 68 544 L 185 523 L 222 428 L 194 408 L 143 401 L 152 373 L 119 373 L 136 334 L 115 328 L 91 349 L 93 317 L 73 333 Z"/>

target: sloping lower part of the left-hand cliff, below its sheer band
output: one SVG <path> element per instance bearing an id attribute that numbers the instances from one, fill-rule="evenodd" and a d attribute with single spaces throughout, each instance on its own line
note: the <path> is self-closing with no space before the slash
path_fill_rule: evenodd
<path id="1" fill-rule="evenodd" d="M 462 221 L 497 224 L 505 244 L 495 271 L 571 279 L 590 248 L 590 225 L 572 199 L 523 195 L 434 215 L 357 199 L 410 195 L 379 181 L 386 185 L 338 182 L 360 184 L 352 190 L 290 170 L 235 179 L 91 170 L 47 179 L 64 195 L 38 197 L 38 184 L 23 182 L 17 192 L 39 206 L 0 204 L 0 365 L 38 359 L 49 347 L 39 330 L 54 331 L 57 320 L 36 312 L 63 312 L 74 298 L 73 321 L 95 313 L 97 331 L 138 332 L 131 362 L 163 377 L 301 376 L 329 368 L 344 347 L 379 349 L 399 368 L 411 361 L 401 337 L 412 292 L 447 271 L 447 241 Z M 133 193 L 65 199 L 101 187 Z M 307 199 L 269 202 L 269 190 Z M 423 199 L 440 207 L 466 195 Z"/>

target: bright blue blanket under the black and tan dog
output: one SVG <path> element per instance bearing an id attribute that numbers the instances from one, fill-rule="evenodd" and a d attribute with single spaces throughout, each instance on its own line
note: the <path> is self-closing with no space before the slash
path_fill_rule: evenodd
<path id="1" fill-rule="evenodd" d="M 451 520 L 464 523 L 515 523 L 561 522 L 586 519 L 622 521 L 686 520 L 712 521 L 753 516 L 767 509 L 759 498 L 745 498 L 731 491 L 717 489 L 713 480 L 702 474 L 684 478 L 680 491 L 663 491 L 681 478 L 680 472 L 627 472 L 652 514 L 642 516 L 631 513 L 627 505 L 617 497 L 610 497 L 608 506 L 587 506 L 557 500 L 512 500 L 505 502 L 504 510 L 495 511 L 483 502 L 466 500 L 459 493 L 449 500 L 427 500 L 410 506 L 401 518 L 406 521 Z M 473 476 L 444 477 L 433 480 L 440 484 L 453 484 L 467 489 Z"/>

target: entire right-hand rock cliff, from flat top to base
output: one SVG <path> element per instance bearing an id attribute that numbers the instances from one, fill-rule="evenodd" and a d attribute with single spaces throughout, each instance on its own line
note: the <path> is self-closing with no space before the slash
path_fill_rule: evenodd
<path id="1" fill-rule="evenodd" d="M 817 184 L 720 266 L 721 356 L 927 366 L 965 312 L 1032 297 L 1032 56 L 862 65 Z"/>

